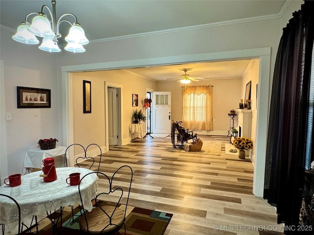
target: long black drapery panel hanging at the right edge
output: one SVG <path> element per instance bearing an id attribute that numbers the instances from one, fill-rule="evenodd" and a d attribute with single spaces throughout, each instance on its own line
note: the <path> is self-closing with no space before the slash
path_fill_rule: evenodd
<path id="1" fill-rule="evenodd" d="M 314 1 L 304 1 L 292 14 L 279 44 L 270 103 L 264 198 L 277 207 L 278 223 L 299 220 L 304 171 L 313 161 L 306 155 L 312 141 L 308 130 L 311 65 L 314 37 Z M 312 119 L 309 119 L 311 117 Z M 312 125 L 310 125 L 312 128 Z M 308 158 L 308 161 L 306 161 Z M 310 160 L 309 160 L 310 158 Z M 287 231 L 287 234 L 292 234 Z"/>

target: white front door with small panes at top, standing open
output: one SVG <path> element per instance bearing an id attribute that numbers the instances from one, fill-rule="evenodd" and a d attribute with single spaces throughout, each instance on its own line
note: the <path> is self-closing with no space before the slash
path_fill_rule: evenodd
<path id="1" fill-rule="evenodd" d="M 171 132 L 171 92 L 153 92 L 152 133 Z"/>

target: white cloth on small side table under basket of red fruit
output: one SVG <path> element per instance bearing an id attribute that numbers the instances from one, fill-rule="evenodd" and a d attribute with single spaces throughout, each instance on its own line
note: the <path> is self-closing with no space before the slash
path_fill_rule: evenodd
<path id="1" fill-rule="evenodd" d="M 45 158 L 54 158 L 64 155 L 65 146 L 55 146 L 53 149 L 43 150 L 40 148 L 32 148 L 25 151 L 23 174 L 26 173 L 26 168 L 42 168 Z M 68 158 L 68 157 L 67 157 Z"/>

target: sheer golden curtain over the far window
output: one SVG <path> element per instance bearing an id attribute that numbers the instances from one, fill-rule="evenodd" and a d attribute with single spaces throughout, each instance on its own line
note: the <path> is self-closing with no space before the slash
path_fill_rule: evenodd
<path id="1" fill-rule="evenodd" d="M 184 126 L 212 131 L 212 86 L 183 87 L 182 95 Z"/>

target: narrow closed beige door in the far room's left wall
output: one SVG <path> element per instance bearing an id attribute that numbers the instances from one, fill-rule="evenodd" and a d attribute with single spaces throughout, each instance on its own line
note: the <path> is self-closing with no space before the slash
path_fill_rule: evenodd
<path id="1" fill-rule="evenodd" d="M 118 122 L 117 122 L 117 88 L 108 87 L 108 136 L 109 145 L 118 144 Z"/>

